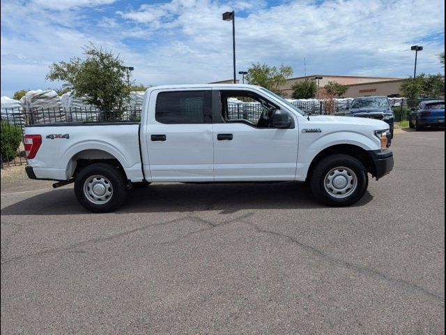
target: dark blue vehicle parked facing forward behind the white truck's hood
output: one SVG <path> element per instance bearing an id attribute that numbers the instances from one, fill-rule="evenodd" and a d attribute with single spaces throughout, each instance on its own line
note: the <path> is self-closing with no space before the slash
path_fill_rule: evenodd
<path id="1" fill-rule="evenodd" d="M 348 117 L 368 117 L 370 119 L 382 120 L 390 126 L 393 138 L 394 114 L 390 109 L 387 96 L 361 96 L 353 99 L 350 110 L 346 113 Z"/>

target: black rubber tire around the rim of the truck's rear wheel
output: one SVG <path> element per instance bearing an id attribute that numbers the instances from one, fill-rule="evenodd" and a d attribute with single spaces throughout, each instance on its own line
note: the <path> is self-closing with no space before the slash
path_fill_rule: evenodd
<path id="1" fill-rule="evenodd" d="M 86 194 L 89 191 L 84 192 L 84 184 L 93 176 L 102 177 L 103 179 L 98 178 L 98 180 L 107 181 L 103 184 L 111 186 L 108 189 L 112 190 L 112 194 L 109 195 L 108 199 L 104 198 L 103 200 L 100 200 L 103 203 L 93 202 L 94 200 L 91 200 L 91 198 L 89 198 L 93 196 Z M 90 190 L 88 185 L 86 185 L 86 189 Z M 76 176 L 76 198 L 82 204 L 82 206 L 84 206 L 89 211 L 93 211 L 95 213 L 106 213 L 107 211 L 113 211 L 114 209 L 120 207 L 121 204 L 123 204 L 123 202 L 127 198 L 127 193 L 128 181 L 125 178 L 125 174 L 112 165 L 105 163 L 91 164 L 83 168 Z"/>

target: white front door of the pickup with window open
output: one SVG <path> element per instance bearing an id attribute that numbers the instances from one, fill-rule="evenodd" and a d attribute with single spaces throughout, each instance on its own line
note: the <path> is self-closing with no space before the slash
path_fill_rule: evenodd
<path id="1" fill-rule="evenodd" d="M 294 180 L 298 127 L 272 128 L 275 108 L 248 90 L 213 92 L 215 181 Z M 217 108 L 217 112 L 215 109 Z"/>

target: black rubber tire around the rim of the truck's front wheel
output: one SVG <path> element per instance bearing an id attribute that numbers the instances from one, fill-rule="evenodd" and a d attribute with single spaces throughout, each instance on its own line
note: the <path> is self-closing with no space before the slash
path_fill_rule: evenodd
<path id="1" fill-rule="evenodd" d="M 351 194 L 346 198 L 335 198 L 325 189 L 325 177 L 338 167 L 348 168 L 356 177 L 356 188 L 352 188 Z M 328 206 L 344 207 L 355 204 L 362 198 L 369 186 L 369 175 L 364 165 L 356 158 L 344 154 L 335 154 L 323 158 L 314 166 L 311 174 L 310 186 L 316 200 Z"/>

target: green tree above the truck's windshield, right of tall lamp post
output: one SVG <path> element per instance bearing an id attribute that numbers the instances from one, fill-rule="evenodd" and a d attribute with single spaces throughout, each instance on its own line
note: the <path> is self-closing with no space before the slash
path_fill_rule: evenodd
<path id="1" fill-rule="evenodd" d="M 266 64 L 252 64 L 248 68 L 248 74 L 246 75 L 246 81 L 249 84 L 259 85 L 275 94 L 283 95 L 279 87 L 286 83 L 286 79 L 293 75 L 293 68 L 291 66 L 268 66 Z"/>

